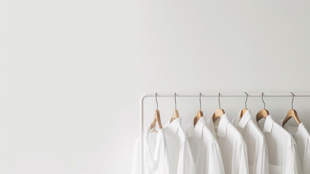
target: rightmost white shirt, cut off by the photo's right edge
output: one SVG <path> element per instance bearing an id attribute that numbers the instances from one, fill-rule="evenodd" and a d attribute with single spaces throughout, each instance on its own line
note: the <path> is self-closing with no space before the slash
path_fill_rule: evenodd
<path id="1" fill-rule="evenodd" d="M 283 119 L 278 123 L 282 125 Z M 298 155 L 303 174 L 310 174 L 310 135 L 304 123 L 300 123 L 298 127 L 285 124 L 284 128 L 292 134 L 297 143 Z"/>

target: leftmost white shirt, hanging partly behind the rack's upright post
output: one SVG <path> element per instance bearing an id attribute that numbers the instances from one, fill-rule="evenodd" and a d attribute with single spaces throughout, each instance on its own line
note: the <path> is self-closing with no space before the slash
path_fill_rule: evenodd
<path id="1" fill-rule="evenodd" d="M 155 128 L 154 128 L 155 129 Z M 149 127 L 144 136 L 144 173 L 143 174 L 172 174 L 163 129 L 157 133 Z M 135 143 L 134 158 L 131 174 L 141 174 L 140 171 L 140 138 Z"/>

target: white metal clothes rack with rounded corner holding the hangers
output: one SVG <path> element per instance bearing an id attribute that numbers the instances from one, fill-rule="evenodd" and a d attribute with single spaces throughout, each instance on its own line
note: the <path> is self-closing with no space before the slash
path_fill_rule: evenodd
<path id="1" fill-rule="evenodd" d="M 188 93 L 177 93 L 177 97 L 199 97 L 200 94 L 188 94 Z M 261 93 L 248 93 L 248 97 L 261 97 Z M 145 94 L 140 98 L 140 174 L 144 173 L 144 115 L 143 115 L 143 104 L 144 99 L 147 97 L 155 97 L 155 94 Z M 157 93 L 157 97 L 174 97 L 174 93 L 171 94 L 161 94 Z M 201 94 L 201 97 L 219 97 L 218 93 L 214 94 Z M 246 97 L 245 93 L 220 93 L 220 97 Z M 263 97 L 292 97 L 291 93 L 263 93 Z M 310 97 L 310 93 L 294 93 L 294 97 Z"/>

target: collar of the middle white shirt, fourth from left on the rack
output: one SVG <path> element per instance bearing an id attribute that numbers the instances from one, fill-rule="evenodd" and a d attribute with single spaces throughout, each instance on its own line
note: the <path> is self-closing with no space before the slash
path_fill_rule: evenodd
<path id="1" fill-rule="evenodd" d="M 215 135 L 214 123 L 212 120 L 213 114 L 207 120 L 207 124 L 209 125 L 209 128 L 212 131 L 212 133 Z M 223 116 L 221 116 L 220 121 L 218 123 L 218 128 L 217 128 L 217 135 L 218 136 L 226 137 L 227 123 L 228 122 L 229 122 L 229 120 L 228 120 L 227 114 L 225 113 Z"/>

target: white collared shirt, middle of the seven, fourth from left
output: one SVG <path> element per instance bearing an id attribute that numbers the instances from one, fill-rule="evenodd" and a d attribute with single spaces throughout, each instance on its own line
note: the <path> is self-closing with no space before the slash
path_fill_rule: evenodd
<path id="1" fill-rule="evenodd" d="M 214 123 L 212 116 L 207 119 L 207 126 L 219 143 L 225 174 L 249 174 L 247 144 L 242 135 L 226 114 Z"/>

